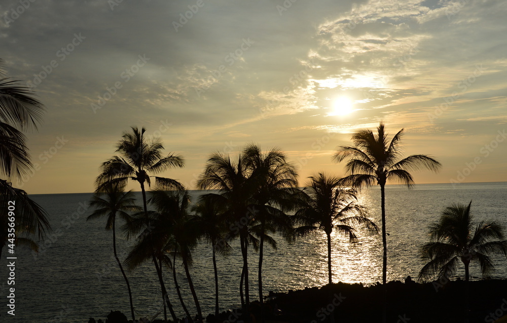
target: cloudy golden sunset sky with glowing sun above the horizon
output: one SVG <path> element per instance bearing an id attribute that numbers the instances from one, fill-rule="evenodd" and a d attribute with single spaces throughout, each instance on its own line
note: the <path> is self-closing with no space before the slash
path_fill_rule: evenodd
<path id="1" fill-rule="evenodd" d="M 190 189 L 213 152 L 279 147 L 300 184 L 346 175 L 358 129 L 434 156 L 416 183 L 507 181 L 505 1 L 3 0 L 0 58 L 47 107 L 30 194 L 92 192 L 131 126 Z M 136 189 L 136 187 L 132 187 Z"/>

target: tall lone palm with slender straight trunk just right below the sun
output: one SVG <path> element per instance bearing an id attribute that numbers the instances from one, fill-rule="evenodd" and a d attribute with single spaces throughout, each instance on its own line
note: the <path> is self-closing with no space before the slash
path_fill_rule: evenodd
<path id="1" fill-rule="evenodd" d="M 441 164 L 428 155 L 411 155 L 400 160 L 400 140 L 404 129 L 398 131 L 390 141 L 384 123 L 377 127 L 377 135 L 371 130 L 359 130 L 352 135 L 354 146 L 338 146 L 333 155 L 336 162 L 348 159 L 345 169 L 350 175 L 343 179 L 353 187 L 380 186 L 380 206 L 382 210 L 382 283 L 387 280 L 387 240 L 385 227 L 385 185 L 387 181 L 405 184 L 409 189 L 414 184 L 409 170 L 428 168 L 437 172 Z"/>

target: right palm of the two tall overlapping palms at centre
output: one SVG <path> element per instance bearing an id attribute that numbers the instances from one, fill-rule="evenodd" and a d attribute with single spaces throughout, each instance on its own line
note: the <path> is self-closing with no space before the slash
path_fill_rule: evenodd
<path id="1" fill-rule="evenodd" d="M 257 145 L 250 144 L 244 150 L 245 164 L 250 177 L 257 186 L 253 196 L 257 225 L 251 228 L 259 238 L 259 302 L 264 302 L 262 295 L 262 264 L 264 241 L 276 249 L 276 241 L 267 234 L 281 231 L 290 240 L 292 237 L 292 220 L 285 213 L 295 205 L 297 190 L 296 168 L 286 161 L 280 149 L 263 153 Z M 262 318 L 264 321 L 264 317 Z"/>

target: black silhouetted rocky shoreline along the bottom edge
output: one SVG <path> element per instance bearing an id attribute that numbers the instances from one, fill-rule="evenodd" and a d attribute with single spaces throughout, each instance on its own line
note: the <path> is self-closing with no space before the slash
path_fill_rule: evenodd
<path id="1" fill-rule="evenodd" d="M 467 291 L 468 290 L 468 291 Z M 272 293 L 265 301 L 267 322 L 381 322 L 382 284 L 333 283 L 320 288 Z M 469 302 L 469 322 L 494 322 L 507 315 L 507 280 L 491 279 L 416 283 L 390 281 L 387 283 L 387 322 L 416 323 L 465 321 L 466 299 Z M 251 303 L 252 322 L 260 322 L 259 302 Z M 222 312 L 218 318 L 210 314 L 207 323 L 240 322 L 238 309 Z M 162 320 L 155 320 L 155 322 Z M 130 322 L 130 321 L 129 321 Z M 109 322 L 116 323 L 116 322 Z"/>

